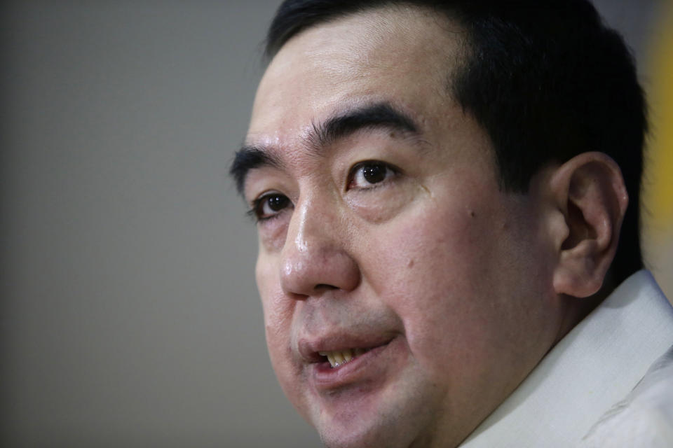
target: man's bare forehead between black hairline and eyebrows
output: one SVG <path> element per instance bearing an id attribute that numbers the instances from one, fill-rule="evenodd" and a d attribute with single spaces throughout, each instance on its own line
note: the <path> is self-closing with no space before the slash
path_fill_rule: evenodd
<path id="1" fill-rule="evenodd" d="M 450 101 L 461 29 L 415 7 L 378 8 L 301 31 L 269 64 L 248 140 L 278 145 L 346 106 L 385 101 L 421 120 Z"/>

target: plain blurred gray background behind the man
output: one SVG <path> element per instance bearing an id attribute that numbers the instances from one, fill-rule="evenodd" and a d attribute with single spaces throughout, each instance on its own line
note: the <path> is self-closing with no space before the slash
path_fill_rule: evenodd
<path id="1" fill-rule="evenodd" d="M 319 446 L 226 174 L 278 3 L 2 4 L 3 446 Z M 643 51 L 662 2 L 597 3 Z"/>

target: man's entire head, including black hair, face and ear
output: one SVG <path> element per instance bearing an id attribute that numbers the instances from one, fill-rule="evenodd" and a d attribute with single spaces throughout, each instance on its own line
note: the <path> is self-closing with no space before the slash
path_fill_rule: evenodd
<path id="1" fill-rule="evenodd" d="M 613 158 L 637 197 L 644 130 L 630 59 L 582 2 L 504 3 L 289 1 L 271 26 L 232 173 L 271 361 L 330 446 L 458 444 L 617 251 Z"/>

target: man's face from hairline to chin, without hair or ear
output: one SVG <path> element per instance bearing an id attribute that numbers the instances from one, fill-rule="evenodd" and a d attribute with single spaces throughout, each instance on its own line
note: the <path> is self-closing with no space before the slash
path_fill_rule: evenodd
<path id="1" fill-rule="evenodd" d="M 562 323 L 543 188 L 501 191 L 449 94 L 461 36 L 416 9 L 352 15 L 292 38 L 257 92 L 268 350 L 329 446 L 458 444 Z"/>

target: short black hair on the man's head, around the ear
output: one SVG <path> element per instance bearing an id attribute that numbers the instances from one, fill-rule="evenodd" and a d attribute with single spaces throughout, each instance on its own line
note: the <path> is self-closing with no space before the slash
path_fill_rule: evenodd
<path id="1" fill-rule="evenodd" d="M 286 0 L 268 29 L 268 58 L 302 30 L 381 6 L 436 10 L 465 30 L 449 80 L 494 146 L 501 186 L 524 193 L 536 172 L 586 151 L 622 169 L 630 197 L 615 261 L 618 283 L 641 269 L 639 193 L 646 104 L 630 51 L 587 0 Z"/>

